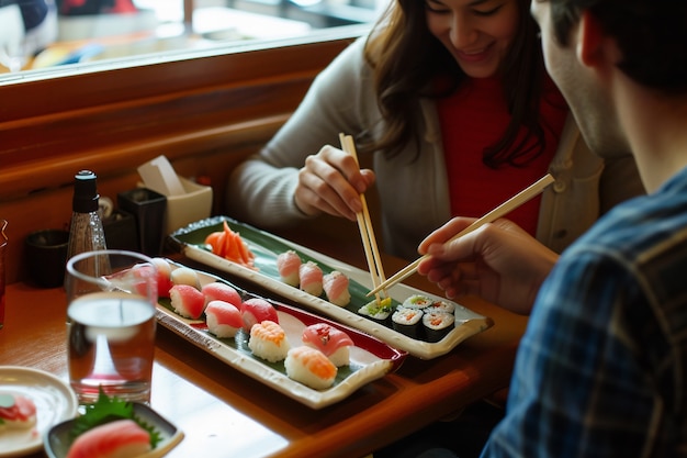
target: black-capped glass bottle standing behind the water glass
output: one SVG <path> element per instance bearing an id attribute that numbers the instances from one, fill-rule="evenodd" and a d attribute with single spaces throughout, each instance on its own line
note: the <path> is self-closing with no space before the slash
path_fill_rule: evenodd
<path id="1" fill-rule="evenodd" d="M 68 259 L 79 253 L 106 248 L 105 232 L 98 212 L 99 199 L 95 174 L 79 171 L 74 183 Z"/>

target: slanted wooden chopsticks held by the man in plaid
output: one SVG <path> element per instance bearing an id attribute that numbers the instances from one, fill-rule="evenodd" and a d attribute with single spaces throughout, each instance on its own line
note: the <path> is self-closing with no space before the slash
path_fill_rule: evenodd
<path id="1" fill-rule="evenodd" d="M 511 197 L 510 199 L 508 199 L 507 201 L 505 201 L 504 203 L 502 203 L 500 205 L 498 205 L 497 208 L 495 208 L 494 210 L 492 210 L 491 212 L 488 212 L 487 214 L 485 214 L 484 216 L 476 220 L 474 223 L 472 223 L 471 225 L 469 225 L 468 227 L 465 227 L 464 230 L 455 234 L 448 242 L 453 242 L 457 238 L 460 238 L 463 235 L 469 234 L 473 232 L 474 230 L 483 226 L 484 224 L 492 223 L 498 220 L 499 217 L 506 215 L 507 213 L 522 205 L 525 202 L 538 196 L 552 182 L 553 182 L 553 177 L 550 174 L 547 174 L 544 177 L 540 178 L 533 185 L 530 185 L 522 191 L 518 192 L 516 196 Z M 391 288 L 392 286 L 396 284 L 397 282 L 410 277 L 413 273 L 415 273 L 415 271 L 417 271 L 417 267 L 420 265 L 420 262 L 424 259 L 427 259 L 429 255 L 425 255 L 425 256 L 419 257 L 415 261 L 408 264 L 406 267 L 398 270 L 391 278 L 388 278 L 388 280 L 382 281 L 380 284 L 375 286 L 367 295 L 372 295 L 372 294 L 378 293 L 381 290 L 386 290 Z"/>

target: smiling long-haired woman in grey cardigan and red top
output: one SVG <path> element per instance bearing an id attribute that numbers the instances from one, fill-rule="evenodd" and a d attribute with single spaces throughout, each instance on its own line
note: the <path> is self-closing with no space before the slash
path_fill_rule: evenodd
<path id="1" fill-rule="evenodd" d="M 267 230 L 323 212 L 356 221 L 359 193 L 376 182 L 384 249 L 410 259 L 452 215 L 481 216 L 549 171 L 556 182 L 509 217 L 562 250 L 642 187 L 631 160 L 604 164 L 579 137 L 545 75 L 529 4 L 392 3 L 233 172 L 229 214 Z M 323 147 L 339 133 L 373 170 Z"/>

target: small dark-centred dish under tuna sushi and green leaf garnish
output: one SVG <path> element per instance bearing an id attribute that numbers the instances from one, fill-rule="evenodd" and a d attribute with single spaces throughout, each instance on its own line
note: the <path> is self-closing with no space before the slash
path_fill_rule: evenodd
<path id="1" fill-rule="evenodd" d="M 161 458 L 183 439 L 183 433 L 180 429 L 147 405 L 134 403 L 134 413 L 148 425 L 154 426 L 162 438 L 155 449 L 135 458 Z M 49 458 L 65 458 L 67 456 L 71 445 L 69 433 L 74 427 L 74 420 L 69 420 L 55 425 L 45 435 L 45 453 Z"/>

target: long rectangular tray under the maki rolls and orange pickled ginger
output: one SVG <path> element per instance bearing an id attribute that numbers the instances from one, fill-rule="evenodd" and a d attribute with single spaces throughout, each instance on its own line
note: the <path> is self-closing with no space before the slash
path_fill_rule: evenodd
<path id="1" fill-rule="evenodd" d="M 212 247 L 205 244 L 206 237 L 223 231 L 225 224 L 240 234 L 240 238 L 255 256 L 251 266 L 217 256 L 212 253 Z M 172 233 L 170 241 L 189 259 L 252 282 L 309 311 L 368 333 L 418 358 L 432 359 L 444 355 L 461 342 L 493 325 L 489 317 L 458 303 L 398 283 L 388 290 L 392 308 L 397 308 L 413 295 L 421 294 L 431 301 L 449 303 L 454 317 L 454 326 L 438 340 L 426 338 L 424 335 L 398 332 L 390 321 L 371 320 L 360 313 L 361 308 L 370 302 L 370 298 L 365 297 L 372 287 L 369 272 L 227 216 L 215 216 L 192 223 Z M 295 252 L 304 264 L 308 261 L 317 264 L 325 275 L 333 271 L 342 272 L 349 279 L 350 302 L 344 306 L 336 305 L 325 294 L 314 295 L 285 283 L 278 269 L 277 259 L 280 254 L 289 250 Z"/>

